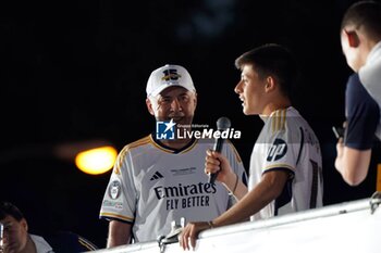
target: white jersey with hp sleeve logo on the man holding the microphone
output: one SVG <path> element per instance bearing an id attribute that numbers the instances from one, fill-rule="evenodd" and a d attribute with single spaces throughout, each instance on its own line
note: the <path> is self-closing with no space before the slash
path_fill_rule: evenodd
<path id="1" fill-rule="evenodd" d="M 249 190 L 265 173 L 282 169 L 290 179 L 282 194 L 251 216 L 269 218 L 322 205 L 321 153 L 317 137 L 294 107 L 261 116 L 263 128 L 250 157 Z"/>

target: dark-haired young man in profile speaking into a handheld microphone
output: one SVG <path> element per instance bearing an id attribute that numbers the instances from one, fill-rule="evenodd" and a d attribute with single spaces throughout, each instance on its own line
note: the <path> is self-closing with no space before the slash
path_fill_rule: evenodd
<path id="1" fill-rule="evenodd" d="M 248 192 L 236 180 L 223 154 L 209 151 L 206 172 L 219 170 L 222 181 L 239 200 L 232 208 L 207 223 L 189 223 L 180 236 L 184 250 L 194 248 L 198 233 L 212 227 L 270 218 L 322 205 L 322 172 L 319 141 L 307 122 L 291 105 L 296 63 L 278 45 L 266 45 L 241 55 L 242 71 L 235 87 L 245 115 L 259 115 L 265 126 L 250 159 Z"/>

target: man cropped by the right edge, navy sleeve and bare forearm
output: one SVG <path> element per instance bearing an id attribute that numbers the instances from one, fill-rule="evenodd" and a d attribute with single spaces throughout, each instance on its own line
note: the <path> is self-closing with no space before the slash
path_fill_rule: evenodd
<path id="1" fill-rule="evenodd" d="M 341 45 L 348 66 L 358 76 L 349 79 L 346 91 L 346 113 L 349 115 L 345 139 L 341 138 L 336 146 L 335 167 L 348 185 L 357 186 L 367 177 L 374 134 L 381 138 L 380 3 L 360 1 L 346 11 L 341 26 Z M 356 87 L 361 84 L 368 92 Z"/>

